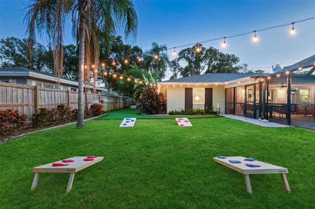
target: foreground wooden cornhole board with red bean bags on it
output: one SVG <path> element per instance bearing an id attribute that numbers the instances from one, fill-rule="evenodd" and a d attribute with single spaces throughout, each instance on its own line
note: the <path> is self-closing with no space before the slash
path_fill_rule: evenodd
<path id="1" fill-rule="evenodd" d="M 67 191 L 69 192 L 72 188 L 73 178 L 74 174 L 78 171 L 81 171 L 91 165 L 94 165 L 95 163 L 101 161 L 104 157 L 95 157 L 94 160 L 91 161 L 84 161 L 87 157 L 70 157 L 67 159 L 72 159 L 74 162 L 63 162 L 62 160 L 51 162 L 45 165 L 33 167 L 32 172 L 35 173 L 32 187 L 31 189 L 34 189 L 37 186 L 38 178 L 40 173 L 70 173 L 70 178 L 68 182 Z M 53 166 L 53 163 L 63 163 L 68 164 L 64 166 Z"/>

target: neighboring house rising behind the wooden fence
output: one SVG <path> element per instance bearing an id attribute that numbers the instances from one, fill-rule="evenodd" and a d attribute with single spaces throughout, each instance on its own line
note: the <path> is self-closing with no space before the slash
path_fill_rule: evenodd
<path id="1" fill-rule="evenodd" d="M 39 86 L 44 88 L 78 91 L 78 81 L 68 78 L 57 78 L 53 74 L 43 73 L 24 67 L 2 67 L 0 68 L 0 81 Z M 58 85 L 59 81 L 59 85 Z M 86 85 L 88 93 L 93 92 L 92 85 Z M 96 87 L 97 94 L 104 94 L 107 89 Z"/>

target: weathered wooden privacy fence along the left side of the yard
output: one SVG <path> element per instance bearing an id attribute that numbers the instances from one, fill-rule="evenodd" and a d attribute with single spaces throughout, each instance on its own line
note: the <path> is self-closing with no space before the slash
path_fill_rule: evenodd
<path id="1" fill-rule="evenodd" d="M 103 100 L 103 111 L 111 111 L 130 106 L 129 97 L 108 96 L 93 93 L 84 93 L 84 107 L 89 110 L 91 104 Z M 0 109 L 9 108 L 19 110 L 20 114 L 27 115 L 26 124 L 32 124 L 32 115 L 39 108 L 57 108 L 64 104 L 71 109 L 78 108 L 78 92 L 29 86 L 23 84 L 0 82 Z"/>

